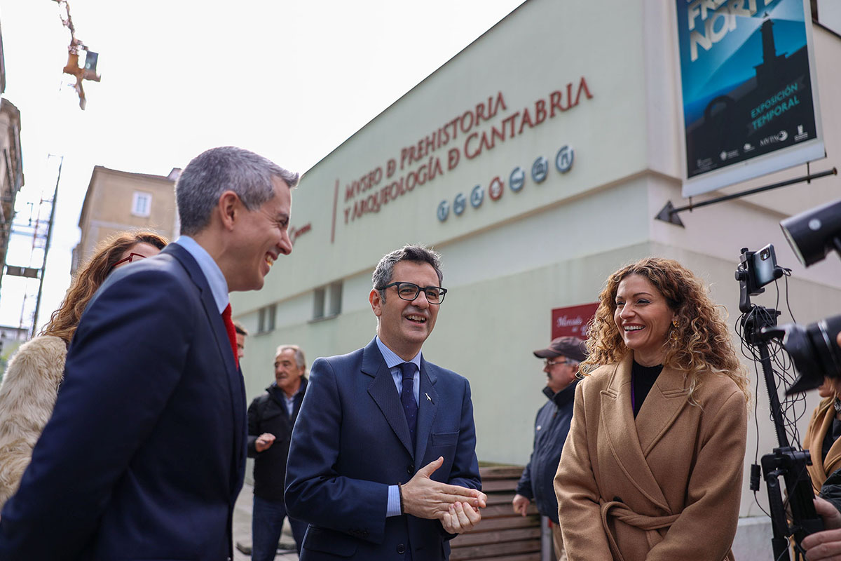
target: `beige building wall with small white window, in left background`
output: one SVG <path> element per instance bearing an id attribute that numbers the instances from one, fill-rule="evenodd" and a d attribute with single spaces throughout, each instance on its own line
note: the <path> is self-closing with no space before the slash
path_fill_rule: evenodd
<path id="1" fill-rule="evenodd" d="M 177 236 L 175 179 L 93 168 L 79 217 L 82 236 L 74 250 L 71 274 L 89 257 L 99 242 L 125 230 L 152 230 L 168 240 Z M 148 216 L 132 214 L 136 192 L 151 194 Z"/>

